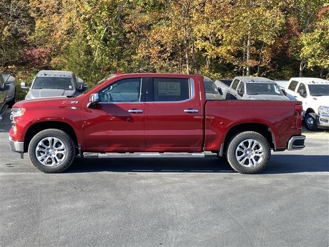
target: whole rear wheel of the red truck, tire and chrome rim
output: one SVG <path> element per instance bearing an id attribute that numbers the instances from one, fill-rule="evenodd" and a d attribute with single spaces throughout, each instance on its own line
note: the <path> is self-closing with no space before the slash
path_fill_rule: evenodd
<path id="1" fill-rule="evenodd" d="M 227 148 L 227 161 L 240 173 L 263 170 L 271 156 L 268 141 L 260 133 L 245 131 L 235 135 Z"/>

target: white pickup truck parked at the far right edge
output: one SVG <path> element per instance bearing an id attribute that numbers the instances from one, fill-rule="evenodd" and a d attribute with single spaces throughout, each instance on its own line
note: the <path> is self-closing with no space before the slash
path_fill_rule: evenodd
<path id="1" fill-rule="evenodd" d="M 329 81 L 319 78 L 291 78 L 285 91 L 303 102 L 306 129 L 329 129 Z"/>

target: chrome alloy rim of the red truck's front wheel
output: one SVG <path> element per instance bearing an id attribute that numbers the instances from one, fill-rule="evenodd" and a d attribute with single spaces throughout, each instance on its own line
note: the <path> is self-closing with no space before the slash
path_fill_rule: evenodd
<path id="1" fill-rule="evenodd" d="M 35 156 L 45 166 L 55 167 L 62 164 L 66 157 L 65 144 L 56 137 L 43 138 L 35 148 Z"/>

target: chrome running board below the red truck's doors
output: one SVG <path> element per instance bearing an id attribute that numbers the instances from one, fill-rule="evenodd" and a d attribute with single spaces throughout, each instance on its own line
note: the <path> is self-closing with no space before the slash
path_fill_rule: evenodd
<path id="1" fill-rule="evenodd" d="M 205 153 L 84 153 L 88 158 L 203 158 Z"/>

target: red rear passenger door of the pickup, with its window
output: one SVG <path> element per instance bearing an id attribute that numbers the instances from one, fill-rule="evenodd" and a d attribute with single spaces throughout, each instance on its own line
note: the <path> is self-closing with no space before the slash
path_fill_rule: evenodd
<path id="1" fill-rule="evenodd" d="M 203 109 L 198 81 L 149 78 L 145 140 L 148 151 L 201 151 Z"/>

